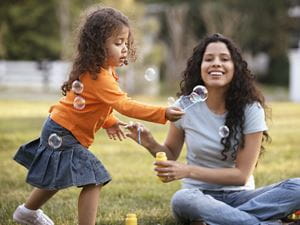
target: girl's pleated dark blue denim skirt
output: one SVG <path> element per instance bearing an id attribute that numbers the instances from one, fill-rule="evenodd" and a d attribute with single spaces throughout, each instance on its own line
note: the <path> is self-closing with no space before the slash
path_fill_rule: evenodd
<path id="1" fill-rule="evenodd" d="M 53 134 L 61 141 L 54 147 L 49 142 Z M 101 161 L 50 117 L 44 123 L 40 138 L 22 145 L 14 160 L 28 169 L 27 183 L 42 189 L 105 185 L 111 180 Z"/>

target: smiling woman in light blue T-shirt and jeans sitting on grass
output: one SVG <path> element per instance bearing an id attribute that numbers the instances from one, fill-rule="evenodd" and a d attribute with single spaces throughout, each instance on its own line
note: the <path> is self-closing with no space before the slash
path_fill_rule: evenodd
<path id="1" fill-rule="evenodd" d="M 170 124 L 164 144 L 140 124 L 128 127 L 127 136 L 135 141 L 142 131 L 141 143 L 153 156 L 166 152 L 169 161 L 156 163 L 158 176 L 165 182 L 183 179 L 171 202 L 175 218 L 190 225 L 283 224 L 280 218 L 300 209 L 300 179 L 254 189 L 252 174 L 269 139 L 266 105 L 231 40 L 213 34 L 194 48 L 178 95 L 190 95 L 197 85 L 207 88 L 207 100 Z M 180 99 L 175 104 L 180 106 Z M 229 133 L 220 135 L 222 128 Z M 184 142 L 187 164 L 175 161 Z"/>

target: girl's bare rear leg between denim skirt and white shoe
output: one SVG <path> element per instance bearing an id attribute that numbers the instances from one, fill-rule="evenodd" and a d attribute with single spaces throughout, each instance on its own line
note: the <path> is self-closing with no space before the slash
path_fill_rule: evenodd
<path id="1" fill-rule="evenodd" d="M 45 202 L 47 202 L 57 190 L 45 190 L 40 188 L 34 188 L 29 195 L 25 207 L 31 210 L 39 209 Z"/>

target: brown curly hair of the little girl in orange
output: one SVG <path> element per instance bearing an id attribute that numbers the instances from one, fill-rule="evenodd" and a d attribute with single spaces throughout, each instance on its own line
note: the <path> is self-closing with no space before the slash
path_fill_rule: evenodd
<path id="1" fill-rule="evenodd" d="M 129 28 L 128 59 L 135 59 L 135 47 L 128 18 L 120 11 L 110 7 L 96 7 L 89 10 L 83 25 L 79 29 L 77 53 L 69 78 L 61 87 L 66 95 L 71 89 L 72 82 L 88 72 L 97 79 L 101 66 L 107 57 L 106 40 L 120 32 L 124 27 Z"/>

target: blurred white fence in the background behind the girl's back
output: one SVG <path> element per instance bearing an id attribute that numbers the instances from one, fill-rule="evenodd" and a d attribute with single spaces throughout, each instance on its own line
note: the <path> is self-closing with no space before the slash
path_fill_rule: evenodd
<path id="1" fill-rule="evenodd" d="M 0 61 L 0 86 L 58 91 L 70 66 L 64 61 Z"/>

